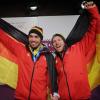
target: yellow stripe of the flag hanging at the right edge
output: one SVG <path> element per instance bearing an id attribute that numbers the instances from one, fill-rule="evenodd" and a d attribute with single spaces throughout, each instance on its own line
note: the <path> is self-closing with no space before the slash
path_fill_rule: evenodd
<path id="1" fill-rule="evenodd" d="M 100 34 L 96 36 L 96 55 L 88 77 L 91 90 L 100 85 Z"/>

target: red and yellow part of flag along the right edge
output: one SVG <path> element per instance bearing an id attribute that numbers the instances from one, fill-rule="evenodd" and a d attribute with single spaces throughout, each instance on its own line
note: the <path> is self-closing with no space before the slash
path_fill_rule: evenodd
<path id="1" fill-rule="evenodd" d="M 96 30 L 96 51 L 94 57 L 91 59 L 89 70 L 90 87 L 94 95 L 100 93 L 100 20 L 97 22 Z M 99 94 L 98 94 L 99 95 Z M 100 99 L 100 96 L 98 96 Z M 94 96 L 95 100 L 99 100 Z"/>

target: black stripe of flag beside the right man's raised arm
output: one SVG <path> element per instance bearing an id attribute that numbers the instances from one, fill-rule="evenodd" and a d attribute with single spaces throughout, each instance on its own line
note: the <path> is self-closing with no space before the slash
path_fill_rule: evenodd
<path id="1" fill-rule="evenodd" d="M 77 19 L 74 27 L 69 33 L 66 43 L 68 46 L 73 45 L 74 43 L 80 41 L 87 31 L 89 26 L 89 17 L 87 12 L 83 12 Z"/>

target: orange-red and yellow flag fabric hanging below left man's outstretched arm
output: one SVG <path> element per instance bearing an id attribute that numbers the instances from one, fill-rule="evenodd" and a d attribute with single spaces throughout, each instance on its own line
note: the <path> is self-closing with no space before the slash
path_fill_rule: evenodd
<path id="1" fill-rule="evenodd" d="M 0 42 L 0 83 L 16 88 L 17 75 L 16 57 Z"/>

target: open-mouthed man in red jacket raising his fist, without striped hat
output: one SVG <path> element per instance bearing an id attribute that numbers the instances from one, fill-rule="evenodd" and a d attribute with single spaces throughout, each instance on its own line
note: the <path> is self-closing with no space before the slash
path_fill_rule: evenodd
<path id="1" fill-rule="evenodd" d="M 52 37 L 60 100 L 90 100 L 86 56 L 92 50 L 91 47 L 96 45 L 96 25 L 100 16 L 92 1 L 86 2 L 84 9 L 89 13 L 90 23 L 85 36 L 79 42 L 68 47 L 61 34 L 54 34 Z"/>

